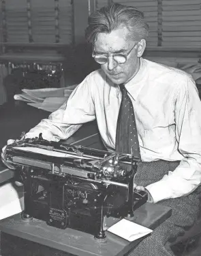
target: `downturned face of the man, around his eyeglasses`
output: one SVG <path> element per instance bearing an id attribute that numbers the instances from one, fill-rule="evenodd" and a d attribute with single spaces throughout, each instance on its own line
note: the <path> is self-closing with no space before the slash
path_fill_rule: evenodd
<path id="1" fill-rule="evenodd" d="M 108 62 L 101 64 L 102 70 L 114 84 L 125 84 L 132 79 L 139 68 L 138 44 L 136 41 L 128 40 L 129 31 L 126 27 L 113 30 L 110 34 L 99 33 L 94 44 L 94 53 L 97 55 L 107 55 Z M 134 45 L 136 46 L 134 47 Z M 134 49 L 132 49 L 134 47 Z M 115 53 L 126 54 L 132 49 L 127 56 L 127 61 L 123 64 L 117 63 L 112 55 Z"/>

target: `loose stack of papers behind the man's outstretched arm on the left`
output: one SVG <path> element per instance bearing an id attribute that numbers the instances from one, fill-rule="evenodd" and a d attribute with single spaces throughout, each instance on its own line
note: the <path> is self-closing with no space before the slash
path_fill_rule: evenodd
<path id="1" fill-rule="evenodd" d="M 14 95 L 16 101 L 26 101 L 28 105 L 54 112 L 57 110 L 72 93 L 77 85 L 65 88 L 43 88 L 35 90 L 23 89 L 22 94 Z"/>

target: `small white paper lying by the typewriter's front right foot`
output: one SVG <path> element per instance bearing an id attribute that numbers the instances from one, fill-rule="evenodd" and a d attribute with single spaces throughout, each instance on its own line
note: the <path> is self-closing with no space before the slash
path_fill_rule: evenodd
<path id="1" fill-rule="evenodd" d="M 153 231 L 132 221 L 125 220 L 125 218 L 119 220 L 119 222 L 112 225 L 112 227 L 109 227 L 107 230 L 129 242 L 142 238 L 144 235 L 148 235 Z"/>

